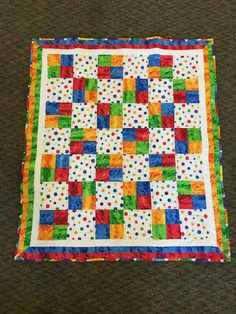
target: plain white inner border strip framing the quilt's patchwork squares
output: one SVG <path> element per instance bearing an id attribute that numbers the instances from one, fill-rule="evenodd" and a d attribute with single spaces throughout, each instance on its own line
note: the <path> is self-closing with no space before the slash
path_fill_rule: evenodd
<path id="1" fill-rule="evenodd" d="M 90 54 L 97 56 L 98 54 L 130 54 L 130 55 L 149 55 L 151 53 L 159 53 L 164 55 L 180 56 L 183 54 L 199 56 L 199 97 L 200 97 L 200 111 L 201 111 L 201 132 L 202 132 L 202 161 L 203 173 L 205 177 L 206 189 L 206 203 L 208 214 L 207 229 L 210 231 L 207 240 L 193 240 L 193 239 L 173 239 L 173 240 L 37 240 L 38 226 L 39 226 L 39 204 L 40 204 L 40 163 L 43 153 L 43 133 L 45 120 L 45 104 L 46 104 L 46 83 L 47 83 L 47 55 L 48 54 Z M 65 247 L 94 247 L 94 246 L 217 246 L 214 210 L 212 205 L 212 191 L 208 163 L 208 134 L 207 134 L 207 114 L 205 102 L 205 80 L 204 80 L 204 59 L 202 49 L 193 50 L 165 50 L 160 48 L 153 49 L 43 49 L 42 51 L 42 77 L 41 77 L 41 91 L 40 91 L 40 109 L 39 109 L 39 125 L 38 125 L 38 143 L 37 155 L 35 161 L 35 178 L 34 178 L 34 209 L 33 209 L 33 226 L 31 234 L 30 246 L 65 246 Z"/>

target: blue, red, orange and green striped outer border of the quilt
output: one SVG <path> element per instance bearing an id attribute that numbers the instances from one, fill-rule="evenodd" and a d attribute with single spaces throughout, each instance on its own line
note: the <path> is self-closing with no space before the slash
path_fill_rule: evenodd
<path id="1" fill-rule="evenodd" d="M 86 49 L 203 49 L 206 110 L 208 120 L 209 167 L 215 213 L 217 247 L 31 247 L 34 165 L 37 152 L 38 115 L 43 48 Z M 213 39 L 149 38 L 39 38 L 31 45 L 30 86 L 27 100 L 25 153 L 22 163 L 22 183 L 19 228 L 15 260 L 18 261 L 204 261 L 229 262 L 230 245 L 228 218 L 222 174 L 222 148 L 217 106 L 216 63 Z"/>

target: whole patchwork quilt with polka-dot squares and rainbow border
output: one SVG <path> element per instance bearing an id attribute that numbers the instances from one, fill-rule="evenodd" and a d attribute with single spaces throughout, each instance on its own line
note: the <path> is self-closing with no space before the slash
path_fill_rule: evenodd
<path id="1" fill-rule="evenodd" d="M 35 39 L 15 259 L 230 260 L 212 39 Z"/>

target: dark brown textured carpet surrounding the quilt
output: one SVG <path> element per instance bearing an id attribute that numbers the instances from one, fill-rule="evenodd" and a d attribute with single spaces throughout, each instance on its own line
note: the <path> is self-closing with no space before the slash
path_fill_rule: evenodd
<path id="1" fill-rule="evenodd" d="M 145 5 L 144 5 L 145 4 Z M 234 313 L 235 1 L 1 1 L 1 313 Z M 32 37 L 215 38 L 232 263 L 13 261 Z"/>

